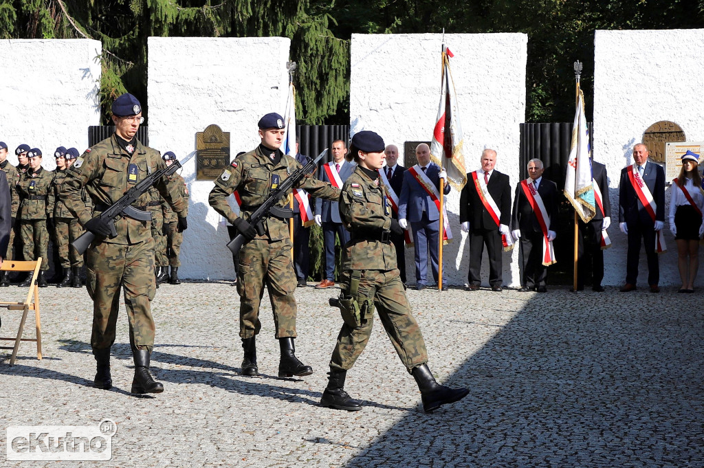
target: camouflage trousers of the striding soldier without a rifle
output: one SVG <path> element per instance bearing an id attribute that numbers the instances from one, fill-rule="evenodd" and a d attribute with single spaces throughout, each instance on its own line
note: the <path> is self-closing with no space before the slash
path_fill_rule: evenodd
<path id="1" fill-rule="evenodd" d="M 348 291 L 351 271 L 342 274 L 343 290 Z M 398 357 L 408 372 L 428 362 L 425 341 L 418 322 L 410 311 L 406 290 L 398 276 L 398 270 L 363 270 L 359 282 L 358 297 L 374 298 L 374 305 L 384 330 L 396 348 Z M 337 344 L 330 359 L 331 369 L 351 369 L 362 354 L 372 334 L 374 317 L 367 317 L 356 329 L 342 325 Z"/>

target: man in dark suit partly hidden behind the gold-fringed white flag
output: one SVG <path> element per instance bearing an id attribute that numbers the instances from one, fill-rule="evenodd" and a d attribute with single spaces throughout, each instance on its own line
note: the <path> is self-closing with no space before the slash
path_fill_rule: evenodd
<path id="1" fill-rule="evenodd" d="M 596 214 L 589 222 L 578 218 L 579 245 L 577 246 L 577 291 L 584 289 L 584 280 L 591 270 L 591 289 L 603 293 L 601 280 L 604 278 L 604 251 L 601 250 L 602 230 L 611 224 L 611 202 L 609 201 L 609 184 L 606 177 L 606 166 L 591 160 L 591 177 L 599 187 L 601 205 L 596 206 Z"/>

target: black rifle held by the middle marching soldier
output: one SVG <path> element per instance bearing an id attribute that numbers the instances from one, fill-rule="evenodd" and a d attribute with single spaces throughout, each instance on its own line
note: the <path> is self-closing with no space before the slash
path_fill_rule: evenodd
<path id="1" fill-rule="evenodd" d="M 278 218 L 289 218 L 294 215 L 291 208 L 281 208 L 280 206 L 277 206 L 276 203 L 280 198 L 287 196 L 287 192 L 291 190 L 294 185 L 298 184 L 303 177 L 306 177 L 308 173 L 318 167 L 318 161 L 320 161 L 326 154 L 327 148 L 325 148 L 322 153 L 318 155 L 318 158 L 308 158 L 306 165 L 303 165 L 303 167 L 296 170 L 296 172 L 284 179 L 283 182 L 279 183 L 279 186 L 270 192 L 269 197 L 264 201 L 264 203 L 262 203 L 262 205 L 251 214 L 247 222 L 249 222 L 249 224 L 257 230 L 257 234 L 261 236 L 265 233 L 264 220 L 268 217 L 273 215 Z M 249 242 L 249 239 L 242 234 L 237 234 L 232 241 L 227 243 L 227 248 L 229 248 L 234 255 L 237 255 L 239 249 L 242 248 L 242 246 L 244 246 L 247 242 Z"/>

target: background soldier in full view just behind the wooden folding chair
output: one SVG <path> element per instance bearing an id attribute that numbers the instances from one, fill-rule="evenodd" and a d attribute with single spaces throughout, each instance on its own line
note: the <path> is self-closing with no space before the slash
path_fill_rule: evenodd
<path id="1" fill-rule="evenodd" d="M 54 171 L 42 167 L 42 151 L 39 148 L 27 151 L 27 158 L 30 169 L 20 177 L 17 184 L 20 194 L 20 236 L 25 260 L 42 258 L 37 286 L 45 288 L 47 284 L 44 273 L 49 270 L 49 231 L 46 230 L 46 220 L 54 216 L 54 194 L 51 191 Z M 20 286 L 30 286 L 31 282 L 31 275 L 27 275 Z"/>

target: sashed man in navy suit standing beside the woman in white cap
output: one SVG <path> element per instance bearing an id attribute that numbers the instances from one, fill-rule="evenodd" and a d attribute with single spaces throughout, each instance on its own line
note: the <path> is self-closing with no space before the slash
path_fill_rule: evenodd
<path id="1" fill-rule="evenodd" d="M 639 143 L 633 147 L 634 165 L 621 170 L 619 184 L 619 227 L 628 236 L 628 254 L 626 260 L 626 284 L 622 292 L 635 291 L 638 278 L 638 260 L 641 253 L 641 237 L 646 246 L 648 258 L 648 284 L 650 292 L 659 293 L 660 265 L 658 252 L 655 251 L 655 238 L 665 225 L 665 170 L 655 163 L 648 162 L 648 146 Z M 630 174 L 629 174 L 630 173 Z M 653 197 L 655 219 L 650 215 L 650 207 L 641 203 L 631 177 L 642 179 Z"/>

